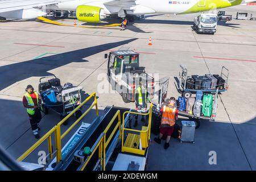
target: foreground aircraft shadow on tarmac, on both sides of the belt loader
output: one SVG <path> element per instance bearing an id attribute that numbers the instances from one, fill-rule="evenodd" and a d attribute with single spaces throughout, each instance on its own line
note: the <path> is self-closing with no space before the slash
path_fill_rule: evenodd
<path id="1" fill-rule="evenodd" d="M 92 102 L 93 100 L 90 100 L 88 104 Z M 8 110 L 5 107 L 6 105 L 13 107 Z M 17 105 L 19 105 L 20 109 L 15 109 Z M 84 106 L 83 111 L 88 107 L 88 105 Z M 5 149 L 9 146 L 7 152 L 14 158 L 18 158 L 37 141 L 32 135 L 26 110 L 23 108 L 21 101 L 11 100 L 0 100 L 0 109 L 2 112 L 0 116 L 2 121 L 0 144 Z M 13 115 L 14 111 L 16 112 L 15 115 Z M 99 113 L 104 115 L 106 111 L 99 109 Z M 59 117 L 56 116 L 57 114 L 55 113 L 49 113 L 44 116 L 42 122 L 40 122 L 41 137 L 59 122 L 59 119 L 56 119 Z M 83 121 L 90 123 L 94 118 L 96 118 L 96 114 L 95 110 L 92 109 Z M 187 119 L 180 118 L 178 122 L 181 120 Z M 70 119 L 68 126 L 61 127 L 61 133 L 67 130 L 73 121 L 75 121 L 74 117 Z M 140 119 L 139 122 L 141 122 Z M 73 131 L 76 131 L 79 126 L 77 125 Z M 152 124 L 151 126 L 154 125 Z M 201 126 L 195 133 L 195 144 L 180 143 L 178 139 L 171 138 L 168 150 L 163 148 L 164 140 L 162 140 L 162 144 L 157 144 L 154 142 L 156 135 L 151 134 L 147 170 L 255 170 L 255 127 L 256 118 L 246 123 L 201 121 Z M 72 132 L 64 138 L 63 146 L 71 136 Z M 52 142 L 53 146 L 55 146 L 54 139 Z M 25 161 L 36 163 L 37 154 L 40 150 L 47 151 L 47 140 L 32 152 Z M 209 151 L 216 151 L 217 165 L 209 164 Z"/>

